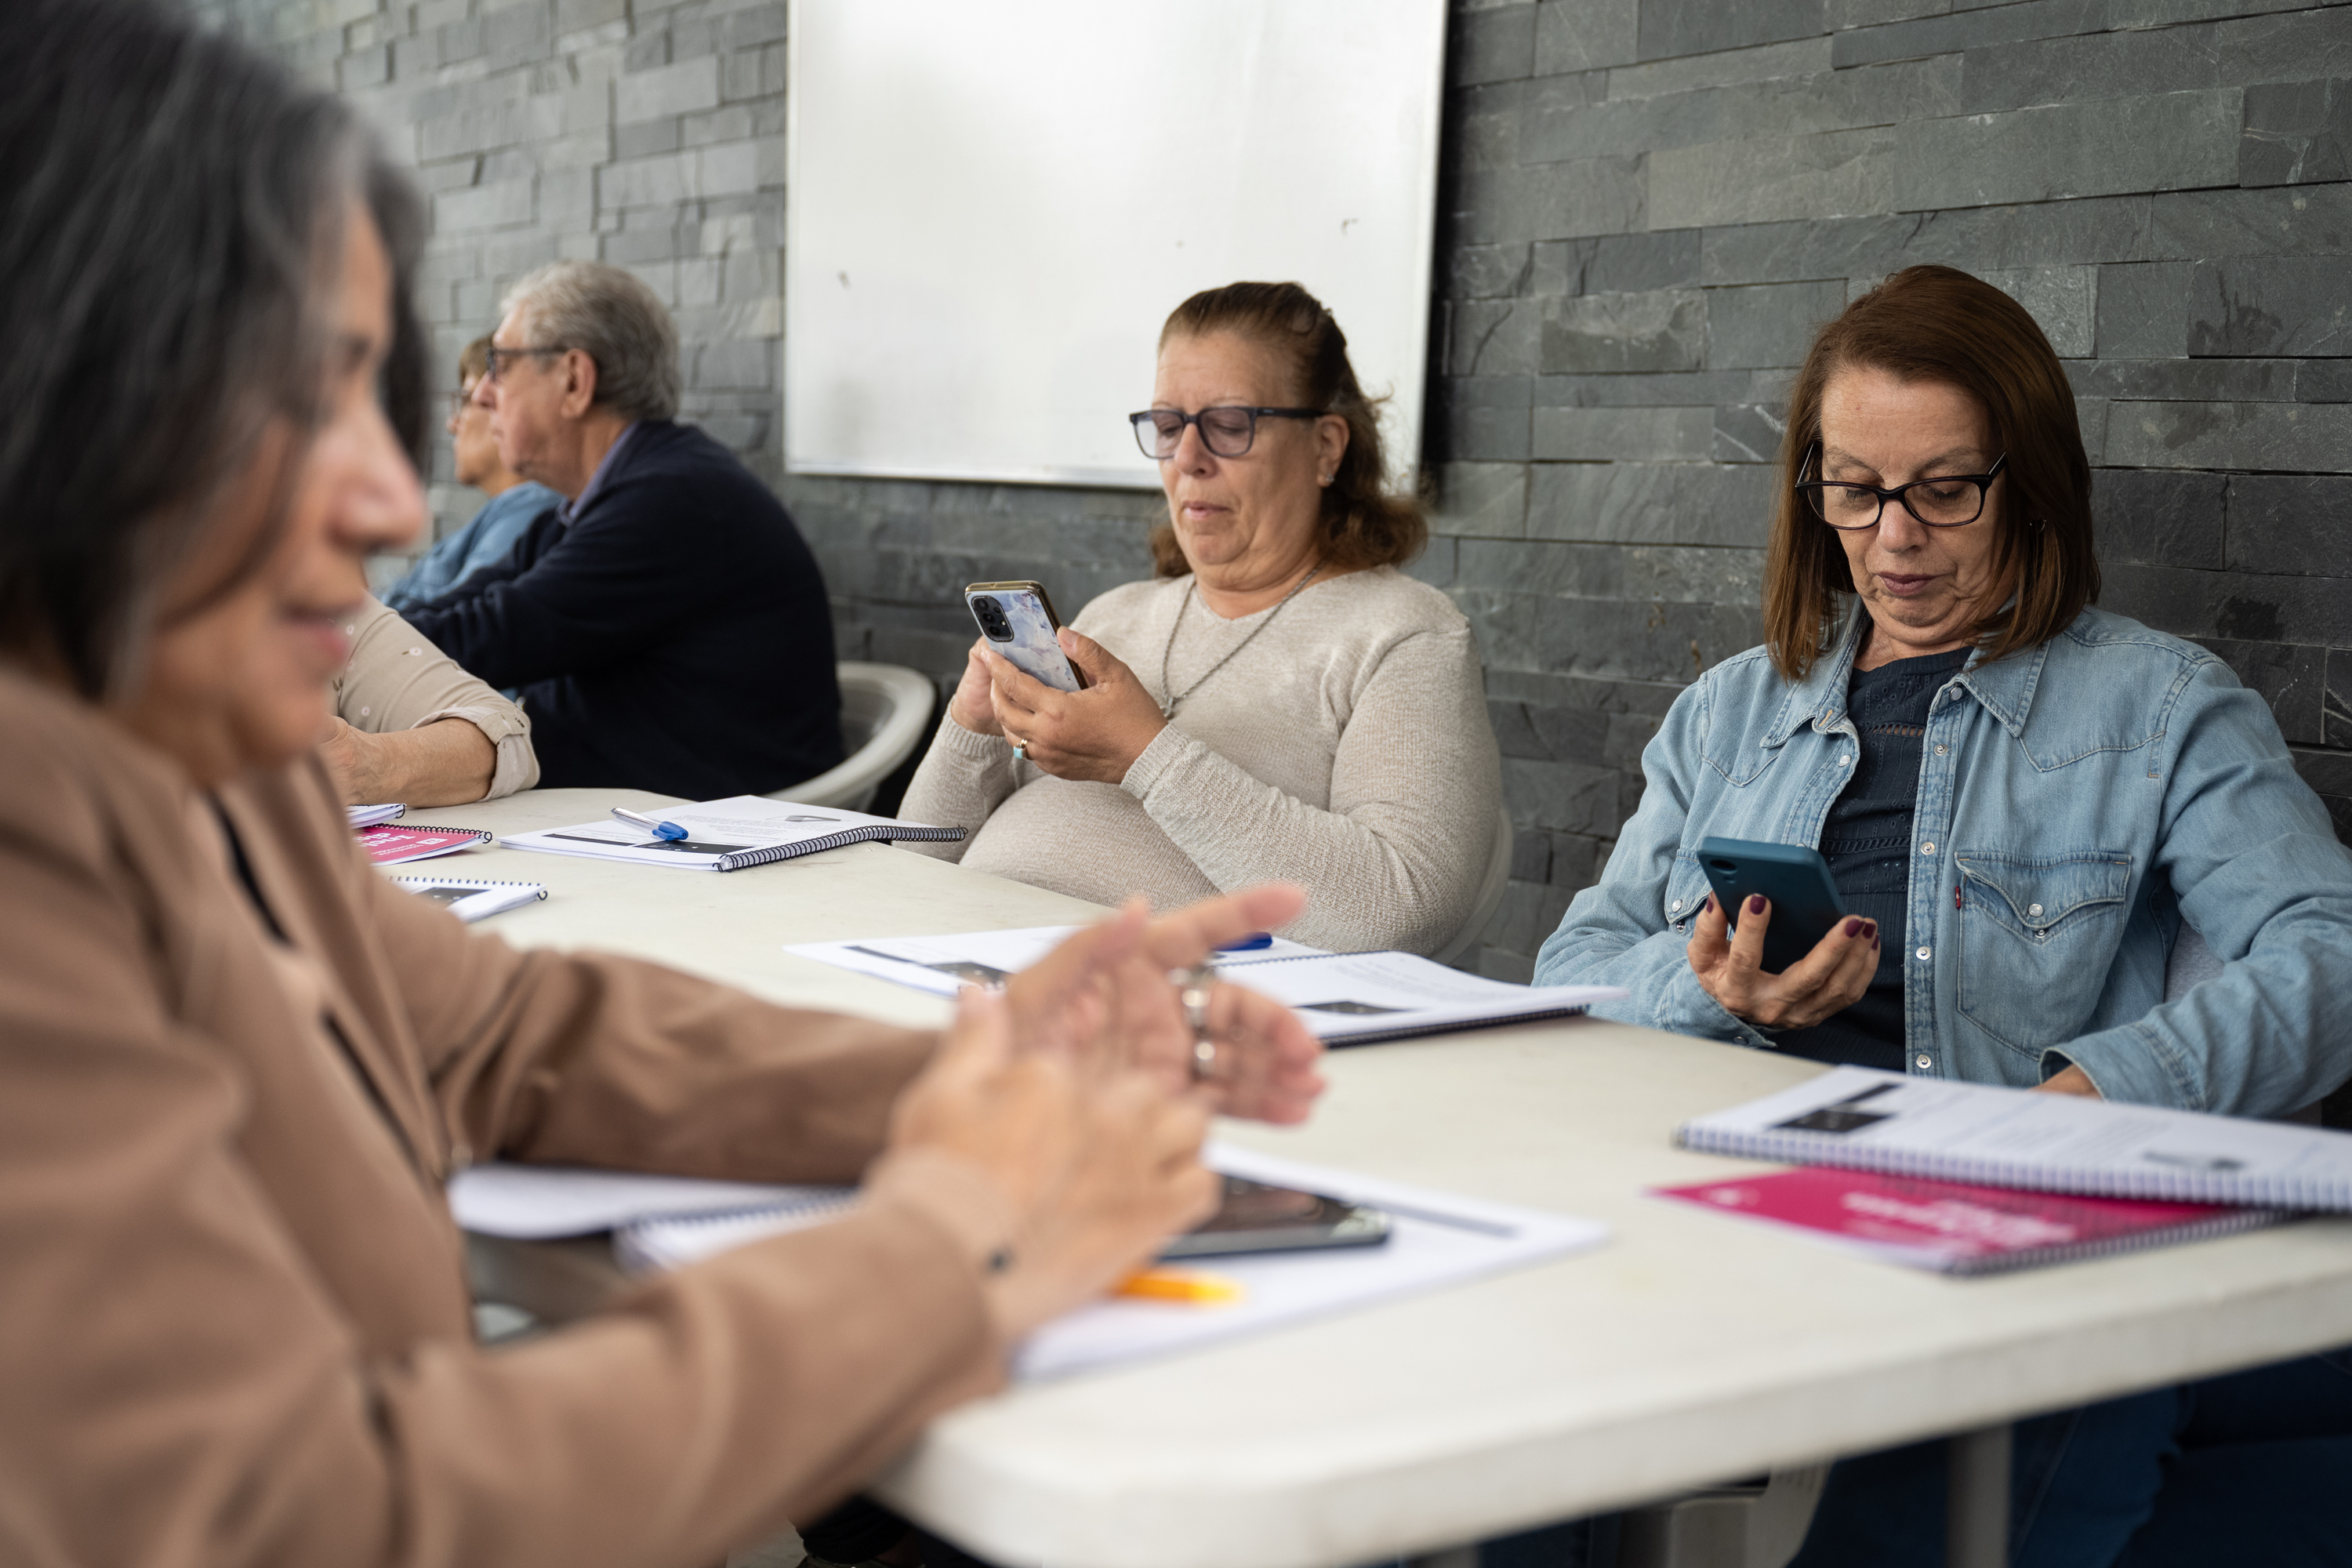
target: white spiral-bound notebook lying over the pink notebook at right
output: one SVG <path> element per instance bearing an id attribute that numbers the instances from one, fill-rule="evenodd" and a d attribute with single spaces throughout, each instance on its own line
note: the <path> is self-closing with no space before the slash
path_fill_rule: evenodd
<path id="1" fill-rule="evenodd" d="M 2352 1133 L 1875 1067 L 1832 1067 L 1684 1121 L 1675 1143 L 1985 1187 L 2352 1211 Z"/>

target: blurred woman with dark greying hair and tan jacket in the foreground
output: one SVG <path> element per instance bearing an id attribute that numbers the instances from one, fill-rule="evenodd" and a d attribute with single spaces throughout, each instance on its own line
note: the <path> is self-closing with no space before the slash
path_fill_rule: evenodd
<path id="1" fill-rule="evenodd" d="M 941 1034 L 513 952 L 358 853 L 313 738 L 421 522 L 379 395 L 409 197 L 348 115 L 122 0 L 0 9 L 0 1561 L 696 1568 L 809 1519 L 1296 1121 L 1296 1018 L 1080 933 Z M 397 404 L 395 404 L 397 407 Z M 496 1354 L 473 1159 L 858 1211 Z"/>

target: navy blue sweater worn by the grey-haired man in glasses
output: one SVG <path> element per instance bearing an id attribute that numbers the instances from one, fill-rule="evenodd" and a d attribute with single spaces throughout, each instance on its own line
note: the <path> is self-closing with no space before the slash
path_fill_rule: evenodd
<path id="1" fill-rule="evenodd" d="M 842 759 L 826 581 L 731 451 L 642 423 L 569 524 L 407 611 L 492 686 L 520 686 L 539 783 L 764 795 Z"/>

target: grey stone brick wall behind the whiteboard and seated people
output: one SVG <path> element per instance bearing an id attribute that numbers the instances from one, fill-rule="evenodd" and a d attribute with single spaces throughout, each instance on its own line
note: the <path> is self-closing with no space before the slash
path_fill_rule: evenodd
<path id="1" fill-rule="evenodd" d="M 962 583 L 1075 611 L 1145 571 L 1155 496 L 779 473 L 781 0 L 191 2 L 416 165 L 452 357 L 550 256 L 652 280 L 689 414 L 790 501 L 844 656 L 950 677 Z M 1658 717 L 1759 639 L 1790 371 L 1917 261 L 2034 313 L 2103 602 L 2263 691 L 2352 837 L 2352 9 L 1456 0 L 1449 47 L 1416 571 L 1477 625 L 1519 823 L 1486 971 L 1526 976 Z"/>

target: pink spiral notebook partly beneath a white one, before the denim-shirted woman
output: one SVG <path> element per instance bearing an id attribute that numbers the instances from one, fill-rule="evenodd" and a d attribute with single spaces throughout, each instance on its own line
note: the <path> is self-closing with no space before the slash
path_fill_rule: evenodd
<path id="1" fill-rule="evenodd" d="M 2270 1208 L 2070 1197 L 1922 1175 L 1797 1166 L 1656 1197 L 1769 1220 L 1846 1251 L 1943 1274 L 1999 1274 L 2143 1246 L 2201 1241 L 2284 1220 Z"/>

